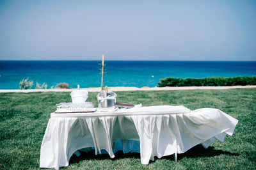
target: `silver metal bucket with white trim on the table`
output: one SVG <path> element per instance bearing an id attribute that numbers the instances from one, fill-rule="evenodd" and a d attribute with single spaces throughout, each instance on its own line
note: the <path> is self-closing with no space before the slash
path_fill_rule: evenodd
<path id="1" fill-rule="evenodd" d="M 100 92 L 97 95 L 97 99 L 99 102 L 99 108 L 113 108 L 116 104 L 116 93 L 109 91 L 106 92 Z"/>

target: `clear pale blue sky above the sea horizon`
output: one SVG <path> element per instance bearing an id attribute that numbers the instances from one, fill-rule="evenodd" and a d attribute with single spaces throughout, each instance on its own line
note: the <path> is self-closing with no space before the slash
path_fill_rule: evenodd
<path id="1" fill-rule="evenodd" d="M 0 0 L 0 60 L 256 61 L 256 1 Z"/>

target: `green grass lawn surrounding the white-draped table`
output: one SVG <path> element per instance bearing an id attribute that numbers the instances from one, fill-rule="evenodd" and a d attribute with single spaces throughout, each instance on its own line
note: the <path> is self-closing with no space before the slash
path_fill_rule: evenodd
<path id="1" fill-rule="evenodd" d="M 117 102 L 142 105 L 184 105 L 191 110 L 212 107 L 239 120 L 224 143 L 201 145 L 178 155 L 156 158 L 145 166 L 140 153 L 72 156 L 63 169 L 256 169 L 256 88 L 186 91 L 117 92 Z M 97 93 L 88 101 L 97 107 Z M 71 102 L 70 93 L 0 93 L 0 169 L 39 169 L 40 146 L 56 104 Z"/>

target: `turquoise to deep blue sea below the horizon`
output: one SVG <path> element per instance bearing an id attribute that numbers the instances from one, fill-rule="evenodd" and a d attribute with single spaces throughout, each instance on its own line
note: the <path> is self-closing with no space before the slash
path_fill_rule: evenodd
<path id="1" fill-rule="evenodd" d="M 0 89 L 19 89 L 22 79 L 70 88 L 100 87 L 100 61 L 0 61 Z M 106 61 L 104 86 L 154 87 L 164 77 L 256 75 L 256 61 Z M 33 86 L 35 88 L 35 85 Z"/>

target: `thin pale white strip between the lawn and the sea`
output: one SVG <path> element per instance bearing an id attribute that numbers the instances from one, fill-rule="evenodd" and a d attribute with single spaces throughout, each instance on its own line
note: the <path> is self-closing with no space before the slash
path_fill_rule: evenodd
<path id="1" fill-rule="evenodd" d="M 193 90 L 193 89 L 243 89 L 256 88 L 256 86 L 187 86 L 187 87 L 109 87 L 109 91 L 159 91 L 159 90 Z M 0 93 L 31 93 L 31 92 L 71 92 L 74 89 L 0 89 Z M 81 88 L 88 92 L 100 92 L 100 88 Z"/>

